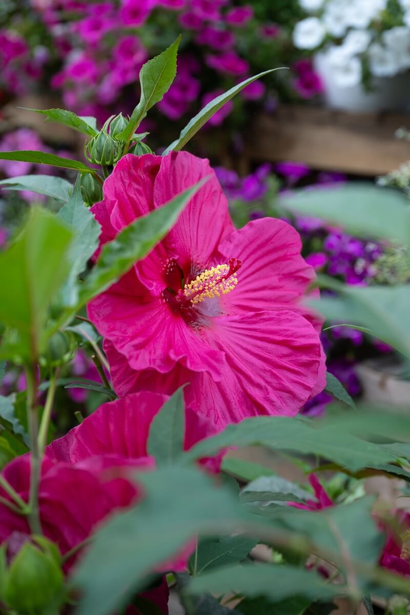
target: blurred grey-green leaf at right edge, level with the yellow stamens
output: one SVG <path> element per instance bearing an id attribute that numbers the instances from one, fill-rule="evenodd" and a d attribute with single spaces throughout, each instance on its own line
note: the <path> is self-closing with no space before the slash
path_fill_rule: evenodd
<path id="1" fill-rule="evenodd" d="M 409 285 L 358 287 L 328 277 L 322 277 L 321 282 L 341 295 L 309 301 L 328 320 L 363 325 L 372 335 L 410 357 Z"/>

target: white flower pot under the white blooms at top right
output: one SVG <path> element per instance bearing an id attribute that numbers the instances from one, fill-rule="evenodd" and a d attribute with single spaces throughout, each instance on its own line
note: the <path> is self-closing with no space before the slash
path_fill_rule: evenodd
<path id="1" fill-rule="evenodd" d="M 325 54 L 313 58 L 315 70 L 325 87 L 326 105 L 343 111 L 406 111 L 410 105 L 410 73 L 394 77 L 374 77 L 374 89 L 366 92 L 361 84 L 341 87 Z"/>

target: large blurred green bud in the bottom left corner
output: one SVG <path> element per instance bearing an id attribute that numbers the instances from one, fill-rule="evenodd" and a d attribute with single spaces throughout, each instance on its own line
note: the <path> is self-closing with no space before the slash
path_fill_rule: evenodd
<path id="1" fill-rule="evenodd" d="M 0 601 L 19 615 L 56 613 L 65 598 L 57 546 L 44 536 L 16 534 L 8 542 L 21 537 L 17 554 L 10 554 L 7 543 L 0 551 Z"/>

